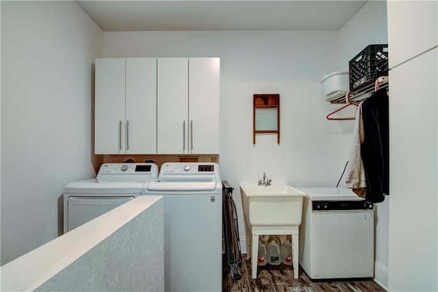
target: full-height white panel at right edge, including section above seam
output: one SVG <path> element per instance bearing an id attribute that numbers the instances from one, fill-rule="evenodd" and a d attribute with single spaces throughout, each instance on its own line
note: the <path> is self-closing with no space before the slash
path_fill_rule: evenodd
<path id="1" fill-rule="evenodd" d="M 438 291 L 438 1 L 387 12 L 389 291 Z"/>

